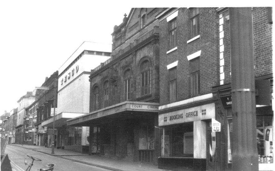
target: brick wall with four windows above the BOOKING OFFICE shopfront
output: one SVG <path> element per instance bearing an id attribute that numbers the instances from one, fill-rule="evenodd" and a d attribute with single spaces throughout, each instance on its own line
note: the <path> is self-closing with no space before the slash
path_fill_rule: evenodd
<path id="1" fill-rule="evenodd" d="M 218 14 L 215 8 L 199 9 L 200 38 L 187 44 L 190 39 L 190 12 L 180 8 L 177 16 L 177 50 L 166 54 L 169 47 L 169 23 L 166 19 L 160 22 L 160 103 L 168 104 L 169 71 L 167 65 L 178 61 L 177 65 L 177 101 L 191 97 L 190 63 L 187 56 L 201 50 L 200 58 L 200 95 L 211 92 L 217 85 L 219 69 L 219 32 Z"/>

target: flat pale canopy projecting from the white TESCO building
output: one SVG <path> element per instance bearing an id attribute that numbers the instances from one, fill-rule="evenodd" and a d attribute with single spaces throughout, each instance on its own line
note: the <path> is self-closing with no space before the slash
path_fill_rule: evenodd
<path id="1" fill-rule="evenodd" d="M 70 113 L 70 112 L 62 112 L 54 116 L 54 118 L 49 118 L 48 120 L 41 123 L 42 127 L 62 127 L 66 125 L 66 121 L 71 118 L 79 117 L 87 113 Z"/>

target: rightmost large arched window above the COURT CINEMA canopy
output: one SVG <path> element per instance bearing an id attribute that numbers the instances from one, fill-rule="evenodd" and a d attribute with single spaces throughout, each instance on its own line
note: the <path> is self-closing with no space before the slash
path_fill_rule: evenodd
<path id="1" fill-rule="evenodd" d="M 150 67 L 149 61 L 142 62 L 140 66 L 141 72 L 141 95 L 150 94 Z"/>

